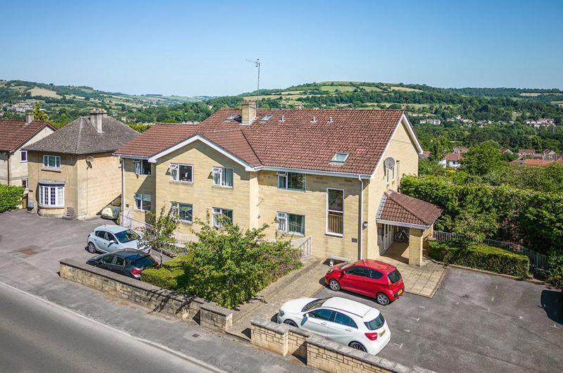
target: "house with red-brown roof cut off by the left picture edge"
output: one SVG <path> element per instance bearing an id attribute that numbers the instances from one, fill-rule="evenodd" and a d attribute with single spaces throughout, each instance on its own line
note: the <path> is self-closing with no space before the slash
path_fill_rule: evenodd
<path id="1" fill-rule="evenodd" d="M 28 155 L 22 149 L 56 131 L 48 122 L 33 119 L 33 114 L 27 114 L 25 120 L 0 120 L 0 184 L 18 185 L 27 190 Z M 25 206 L 25 198 L 23 203 Z"/>

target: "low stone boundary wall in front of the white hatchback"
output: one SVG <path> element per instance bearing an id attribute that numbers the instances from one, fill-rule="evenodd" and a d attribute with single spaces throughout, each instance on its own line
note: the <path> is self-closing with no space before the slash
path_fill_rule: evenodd
<path id="1" fill-rule="evenodd" d="M 252 343 L 279 355 L 294 355 L 309 367 L 325 372 L 432 373 L 421 367 L 405 367 L 348 346 L 314 336 L 308 331 L 264 319 L 252 321 Z"/>

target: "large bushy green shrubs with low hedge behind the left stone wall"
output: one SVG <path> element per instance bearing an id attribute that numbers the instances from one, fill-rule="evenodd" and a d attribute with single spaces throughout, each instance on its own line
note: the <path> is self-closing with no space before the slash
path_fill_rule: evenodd
<path id="1" fill-rule="evenodd" d="M 234 308 L 302 265 L 289 240 L 265 241 L 267 225 L 241 229 L 224 221 L 217 229 L 208 221 L 196 221 L 198 241 L 186 245 L 187 255 L 143 271 L 143 281 Z"/>

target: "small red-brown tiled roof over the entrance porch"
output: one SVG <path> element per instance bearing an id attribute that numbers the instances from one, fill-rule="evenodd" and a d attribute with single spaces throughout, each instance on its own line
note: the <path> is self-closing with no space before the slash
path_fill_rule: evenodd
<path id="1" fill-rule="evenodd" d="M 377 219 L 429 227 L 441 213 L 441 208 L 432 203 L 398 191 L 386 191 L 379 204 Z"/>

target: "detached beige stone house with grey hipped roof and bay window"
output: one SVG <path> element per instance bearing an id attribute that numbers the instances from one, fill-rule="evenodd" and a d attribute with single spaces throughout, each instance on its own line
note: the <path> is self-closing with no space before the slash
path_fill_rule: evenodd
<path id="1" fill-rule="evenodd" d="M 30 210 L 78 219 L 99 214 L 121 193 L 122 172 L 113 152 L 137 135 L 105 110 L 92 110 L 25 146 Z"/>

